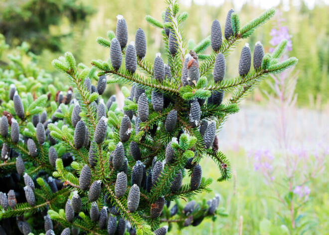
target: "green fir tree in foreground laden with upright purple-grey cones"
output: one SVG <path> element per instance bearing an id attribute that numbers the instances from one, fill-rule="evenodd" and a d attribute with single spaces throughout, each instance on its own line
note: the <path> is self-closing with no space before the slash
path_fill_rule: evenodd
<path id="1" fill-rule="evenodd" d="M 225 77 L 225 56 L 275 11 L 240 28 L 231 9 L 225 25 L 215 19 L 208 25 L 211 35 L 195 45 L 182 36 L 180 24 L 188 14 L 179 12 L 175 0 L 167 4 L 164 22 L 146 16 L 165 43 L 166 53 L 155 55 L 154 63 L 145 59 L 148 35 L 138 28 L 137 42 L 127 44 L 129 25 L 118 15 L 108 39 L 97 39 L 109 61 L 93 60 L 89 68 L 76 65 L 70 52 L 53 60 L 70 82 L 66 93 L 36 98 L 10 85 L 8 112 L 0 121 L 0 169 L 22 187 L 0 193 L 2 220 L 16 217 L 24 235 L 39 234 L 37 218 L 44 218 L 43 234 L 165 235 L 174 223 L 197 226 L 206 217 L 225 215 L 219 195 L 184 205 L 178 199 L 211 192 L 212 179 L 202 177 L 202 158 L 218 165 L 218 181 L 231 177 L 216 133 L 266 75 L 294 66 L 297 59 L 279 62 L 273 56 L 286 43 L 264 54 L 257 42 L 254 69 L 254 47 L 245 46 L 239 76 Z M 211 52 L 204 54 L 208 47 Z M 102 94 L 112 83 L 132 85 L 130 92 L 122 88 L 124 110 L 114 96 L 104 104 Z M 182 185 L 183 179 L 190 183 Z"/>

